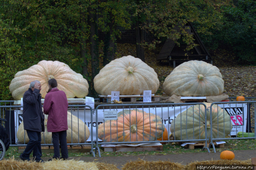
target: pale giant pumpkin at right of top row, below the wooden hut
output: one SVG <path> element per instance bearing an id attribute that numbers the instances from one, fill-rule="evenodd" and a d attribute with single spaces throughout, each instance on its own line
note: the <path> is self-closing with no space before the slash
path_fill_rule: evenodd
<path id="1" fill-rule="evenodd" d="M 223 93 L 224 81 L 216 66 L 192 60 L 175 67 L 165 78 L 163 89 L 169 96 L 218 96 Z"/>

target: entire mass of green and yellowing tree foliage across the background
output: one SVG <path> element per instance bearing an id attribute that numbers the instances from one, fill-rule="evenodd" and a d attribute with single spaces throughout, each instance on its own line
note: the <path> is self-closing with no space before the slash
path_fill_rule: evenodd
<path id="1" fill-rule="evenodd" d="M 115 54 L 116 37 L 121 29 L 130 29 L 139 21 L 140 29 L 154 35 L 152 42 L 140 45 L 154 48 L 162 40 L 171 38 L 187 44 L 186 50 L 196 46 L 193 36 L 183 26 L 189 21 L 212 49 L 226 46 L 242 62 L 255 63 L 255 2 L 252 0 L 1 0 L 0 5 L 0 100 L 12 99 L 9 84 L 15 73 L 41 60 L 58 60 L 75 72 L 86 74 L 91 81 L 99 66 L 91 64 L 101 56 L 99 44 L 91 45 L 89 14 L 94 10 L 97 28 L 108 37 L 104 57 Z M 175 26 L 179 30 L 175 30 Z M 98 38 L 96 34 L 92 37 Z M 110 45 L 111 44 L 111 45 Z M 80 51 L 84 50 L 81 56 Z M 106 55 L 105 55 L 106 54 Z M 108 54 L 108 55 L 107 55 Z M 112 57 L 112 56 L 111 56 Z M 85 62 L 87 61 L 87 62 Z M 100 60 L 99 60 L 100 61 Z M 109 62 L 109 60 L 108 60 Z M 88 71 L 88 73 L 87 73 Z M 93 89 L 93 86 L 90 87 Z"/>

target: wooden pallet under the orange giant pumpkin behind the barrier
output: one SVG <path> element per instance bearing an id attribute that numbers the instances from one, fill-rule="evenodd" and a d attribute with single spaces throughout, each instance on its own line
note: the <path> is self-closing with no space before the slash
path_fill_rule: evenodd
<path id="1" fill-rule="evenodd" d="M 104 152 L 138 152 L 138 151 L 163 151 L 163 145 L 159 146 L 112 146 L 103 147 Z"/>

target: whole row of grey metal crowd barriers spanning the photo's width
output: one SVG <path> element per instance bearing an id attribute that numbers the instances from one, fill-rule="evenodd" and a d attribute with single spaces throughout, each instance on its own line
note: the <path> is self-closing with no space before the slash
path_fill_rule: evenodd
<path id="1" fill-rule="evenodd" d="M 205 142 L 203 150 L 207 149 L 207 151 L 210 152 L 209 148 L 212 145 L 214 152 L 216 152 L 213 144 L 214 141 L 256 138 L 254 129 L 256 126 L 256 101 L 253 97 L 250 99 L 252 100 L 243 102 L 215 102 L 210 105 L 206 105 L 205 103 L 101 104 L 98 105 L 95 110 L 92 110 L 90 106 L 84 104 L 69 105 L 68 110 L 71 112 L 71 115 L 81 119 L 83 121 L 83 127 L 88 125 L 91 129 L 91 141 L 80 141 L 79 137 L 82 133 L 86 136 L 86 134 L 84 134 L 86 132 L 81 130 L 79 126 L 81 123 L 77 121 L 77 127 L 79 127 L 77 134 L 73 133 L 73 130 L 71 131 L 71 142 L 68 143 L 68 145 L 91 145 L 90 153 L 93 154 L 94 157 L 97 151 L 100 156 L 100 145 L 106 144 Z M 10 118 L 10 115 L 14 116 L 14 113 L 11 111 L 18 112 L 21 107 L 10 104 L 12 101 L 0 101 L 0 103 L 0 118 L 6 118 L 8 116 Z M 7 106 L 6 103 L 10 104 L 10 106 Z M 217 108 L 217 118 L 213 116 L 213 110 L 216 105 L 225 110 L 218 112 Z M 112 111 L 114 111 L 114 113 L 112 113 Z M 145 114 L 143 112 L 145 112 Z M 214 110 L 214 113 L 215 112 L 216 109 Z M 225 115 L 224 112 L 228 112 L 229 115 Z M 110 116 L 106 116 L 108 114 Z M 210 114 L 210 116 L 208 114 Z M 226 122 L 229 122 L 229 124 L 224 123 L 222 118 L 219 119 L 219 114 L 220 116 L 223 114 L 223 119 L 228 118 Z M 71 119 L 74 119 L 73 116 L 71 116 Z M 112 118 L 109 118 L 115 116 L 120 116 L 122 119 L 111 120 Z M 15 117 L 15 124 L 17 124 L 17 121 L 19 121 L 18 114 L 16 114 Z M 130 123 L 132 117 L 134 117 L 133 120 L 135 123 Z M 9 124 L 6 128 L 9 129 L 10 139 L 12 139 L 11 119 L 8 120 Z M 127 122 L 129 123 L 127 124 Z M 243 123 L 241 124 L 241 122 Z M 71 129 L 75 128 L 72 123 L 74 122 L 71 121 Z M 250 123 L 252 123 L 252 126 L 249 125 Z M 213 124 L 215 126 L 214 128 Z M 230 124 L 233 124 L 233 126 L 229 127 L 229 133 L 222 133 L 221 128 Z M 156 130 L 156 127 L 158 130 Z M 173 132 L 172 139 L 163 140 L 162 134 L 165 128 L 168 130 L 168 136 Z M 251 132 L 252 129 L 254 130 L 254 137 L 244 137 L 245 134 L 249 136 L 249 132 Z M 239 131 L 243 132 L 242 137 L 237 137 L 237 132 Z M 130 135 L 131 132 L 137 137 L 132 138 Z M 16 136 L 17 132 L 15 131 L 15 140 L 17 140 Z M 78 139 L 78 142 L 76 142 L 75 139 Z M 147 141 L 147 139 L 150 139 L 150 141 Z M 46 138 L 43 137 L 42 141 L 46 141 Z M 53 144 L 43 143 L 42 146 L 44 145 L 52 146 Z M 95 151 L 93 150 L 94 145 L 96 145 Z M 26 146 L 26 143 L 24 141 L 18 144 L 12 142 L 10 146 Z"/>

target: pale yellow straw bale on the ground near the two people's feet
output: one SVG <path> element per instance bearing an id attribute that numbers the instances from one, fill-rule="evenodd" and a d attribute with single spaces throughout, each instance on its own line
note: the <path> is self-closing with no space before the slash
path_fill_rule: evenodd
<path id="1" fill-rule="evenodd" d="M 53 159 L 52 161 L 47 161 L 43 164 L 45 170 L 98 170 L 97 165 L 95 162 L 84 162 L 79 160 L 56 160 Z"/>

